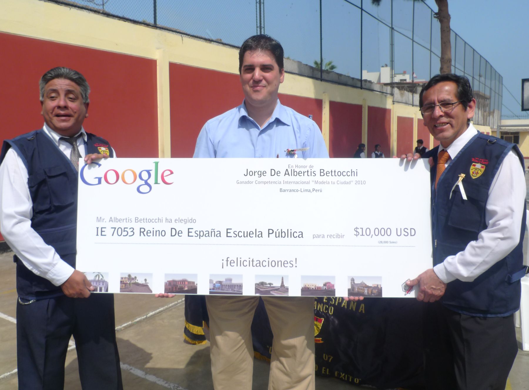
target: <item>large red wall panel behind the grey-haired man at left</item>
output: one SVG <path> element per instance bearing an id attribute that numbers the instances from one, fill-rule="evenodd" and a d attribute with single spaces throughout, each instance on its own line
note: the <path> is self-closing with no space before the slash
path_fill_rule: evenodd
<path id="1" fill-rule="evenodd" d="M 57 66 L 86 77 L 92 92 L 88 132 L 106 138 L 120 157 L 158 156 L 156 61 L 0 33 L 2 139 L 42 127 L 39 79 Z"/>

